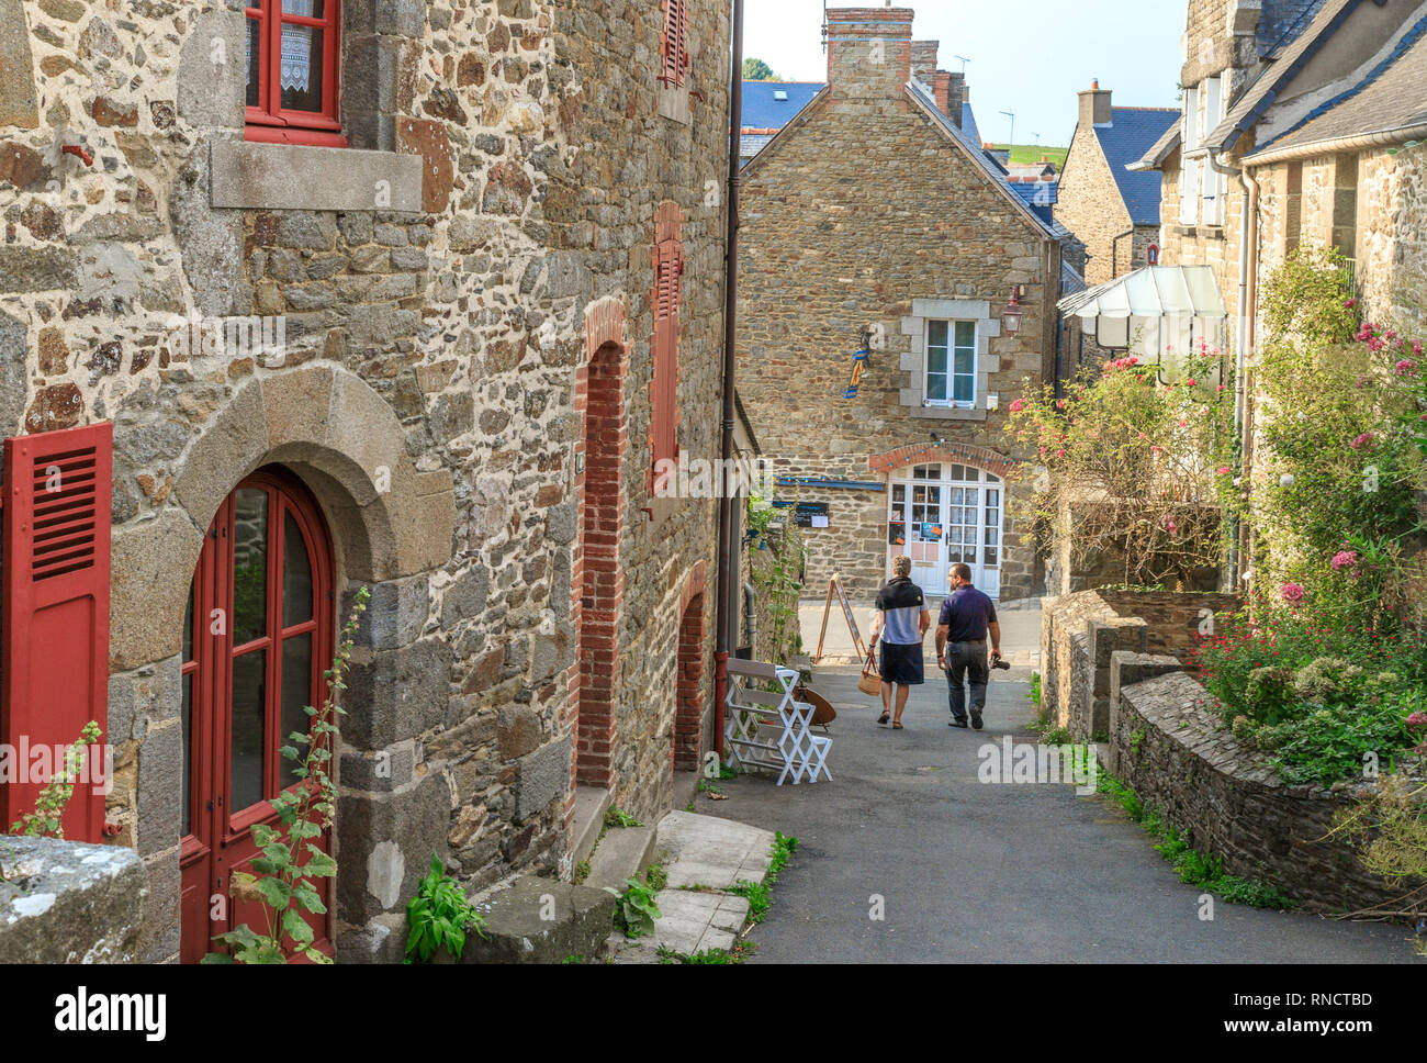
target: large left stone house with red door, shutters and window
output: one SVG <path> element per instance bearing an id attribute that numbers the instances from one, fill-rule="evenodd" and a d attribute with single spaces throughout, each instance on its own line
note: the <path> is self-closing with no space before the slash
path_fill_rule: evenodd
<path id="1" fill-rule="evenodd" d="M 96 682 L 61 695 L 116 749 L 141 955 L 248 916 L 231 875 L 358 586 L 338 957 L 400 957 L 432 852 L 568 878 L 577 785 L 669 808 L 711 742 L 716 504 L 651 469 L 718 457 L 728 6 L 0 0 L 0 434 L 19 495 L 96 428 Z M 34 558 L 0 726 L 73 741 L 29 668 L 53 616 L 11 609 Z"/>

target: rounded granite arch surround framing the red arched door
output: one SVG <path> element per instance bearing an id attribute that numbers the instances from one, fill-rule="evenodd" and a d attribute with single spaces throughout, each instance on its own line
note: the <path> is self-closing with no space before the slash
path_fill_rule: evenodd
<path id="1" fill-rule="evenodd" d="M 154 705 L 144 709 L 150 722 L 138 752 L 138 792 L 128 798 L 156 897 L 141 949 L 153 960 L 181 953 L 180 669 L 203 529 L 235 487 L 268 465 L 300 479 L 327 524 L 332 624 L 357 586 L 371 588 L 342 695 L 350 715 L 337 772 L 334 933 L 342 956 L 400 960 L 390 926 L 404 925 L 405 900 L 450 829 L 441 775 L 418 778 L 412 758 L 398 755 L 421 733 L 411 706 L 427 702 L 402 699 L 398 685 L 432 671 L 421 656 L 430 644 L 414 641 L 420 624 L 407 612 L 412 602 L 430 608 L 431 574 L 451 559 L 455 497 L 448 471 L 415 469 L 401 422 L 381 395 L 328 364 L 250 378 L 180 455 L 168 505 L 114 529 L 110 689 L 118 693 L 111 705 L 114 696 Z M 438 679 L 444 691 L 447 676 Z M 391 770 L 377 783 L 368 776 L 384 753 Z M 147 780 L 146 763 L 156 765 Z M 397 945 L 387 949 L 384 942 Z"/>

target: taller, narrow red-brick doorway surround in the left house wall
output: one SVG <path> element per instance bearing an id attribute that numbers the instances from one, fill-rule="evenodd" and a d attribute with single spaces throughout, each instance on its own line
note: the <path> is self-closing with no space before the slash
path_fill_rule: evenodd
<path id="1" fill-rule="evenodd" d="M 612 785 L 614 681 L 619 663 L 619 538 L 624 485 L 624 304 L 602 300 L 585 311 L 585 350 L 589 362 L 579 371 L 577 395 L 584 397 L 585 469 L 575 478 L 579 536 L 572 581 L 578 634 L 572 671 L 575 712 L 575 780 L 585 786 Z"/>

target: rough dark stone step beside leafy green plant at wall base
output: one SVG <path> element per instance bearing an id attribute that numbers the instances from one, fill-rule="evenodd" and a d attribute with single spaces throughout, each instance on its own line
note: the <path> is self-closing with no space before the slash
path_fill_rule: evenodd
<path id="1" fill-rule="evenodd" d="M 522 875 L 471 903 L 485 937 L 467 935 L 461 963 L 562 963 L 604 955 L 618 902 L 602 889 Z"/>

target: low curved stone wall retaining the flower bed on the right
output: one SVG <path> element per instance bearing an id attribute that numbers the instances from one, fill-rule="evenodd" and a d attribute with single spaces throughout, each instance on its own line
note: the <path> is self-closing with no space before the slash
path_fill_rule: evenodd
<path id="1" fill-rule="evenodd" d="M 1107 768 L 1144 806 L 1226 872 L 1263 879 L 1309 909 L 1391 909 L 1410 892 L 1384 886 L 1346 843 L 1324 840 L 1353 789 L 1286 785 L 1259 751 L 1229 733 L 1203 686 L 1166 669 L 1174 665 L 1164 656 L 1112 658 Z"/>

